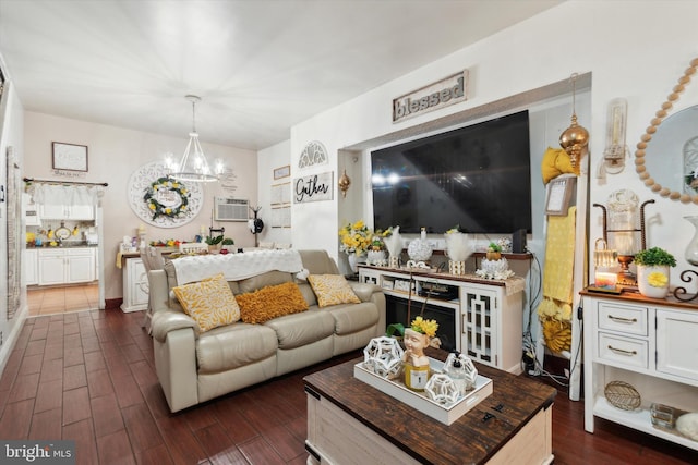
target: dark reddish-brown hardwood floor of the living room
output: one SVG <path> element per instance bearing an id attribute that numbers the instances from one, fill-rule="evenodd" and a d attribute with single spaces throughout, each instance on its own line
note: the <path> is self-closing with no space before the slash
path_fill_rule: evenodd
<path id="1" fill-rule="evenodd" d="M 79 464 L 304 464 L 308 372 L 359 352 L 170 414 L 141 313 L 29 318 L 0 379 L 0 438 L 71 439 Z M 555 464 L 698 464 L 698 453 L 553 407 Z M 467 438 L 464 438 L 467 440 Z M 371 457 L 362 457 L 371 463 Z"/>

